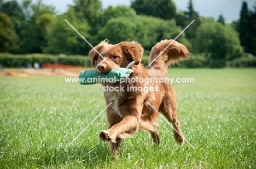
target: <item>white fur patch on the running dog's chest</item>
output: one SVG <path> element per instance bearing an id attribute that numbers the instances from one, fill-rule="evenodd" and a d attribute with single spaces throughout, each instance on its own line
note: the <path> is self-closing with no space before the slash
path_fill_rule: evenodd
<path id="1" fill-rule="evenodd" d="M 106 98 L 108 99 L 108 101 L 112 101 L 112 110 L 114 111 L 115 114 L 117 114 L 119 117 L 123 118 L 123 115 L 120 113 L 119 111 L 119 101 L 120 101 L 120 97 L 124 96 L 123 92 L 104 92 L 104 94 L 106 95 Z"/>

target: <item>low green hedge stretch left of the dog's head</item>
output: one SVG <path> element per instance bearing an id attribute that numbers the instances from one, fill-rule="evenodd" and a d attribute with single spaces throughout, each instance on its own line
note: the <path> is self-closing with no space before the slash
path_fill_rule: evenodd
<path id="1" fill-rule="evenodd" d="M 4 68 L 27 68 L 34 62 L 54 64 L 77 65 L 81 67 L 90 67 L 90 59 L 86 56 L 65 56 L 65 55 L 46 55 L 46 54 L 28 54 L 28 55 L 11 55 L 8 53 L 0 53 L 0 64 Z"/>

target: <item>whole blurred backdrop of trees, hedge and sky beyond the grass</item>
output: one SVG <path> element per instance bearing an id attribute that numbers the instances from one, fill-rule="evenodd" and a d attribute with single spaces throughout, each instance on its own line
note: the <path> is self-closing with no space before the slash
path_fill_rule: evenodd
<path id="1" fill-rule="evenodd" d="M 0 68 L 90 67 L 91 47 L 65 19 L 93 46 L 138 41 L 145 65 L 195 20 L 177 39 L 193 55 L 176 67 L 256 67 L 256 1 L 0 0 Z"/>

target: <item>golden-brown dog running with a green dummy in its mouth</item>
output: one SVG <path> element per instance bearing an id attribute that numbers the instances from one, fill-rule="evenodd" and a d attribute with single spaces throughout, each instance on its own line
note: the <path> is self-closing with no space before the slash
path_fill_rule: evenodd
<path id="1" fill-rule="evenodd" d="M 149 56 L 149 63 L 152 62 L 162 50 L 164 50 L 172 40 L 162 40 L 156 44 Z M 190 52 L 187 48 L 174 41 L 161 55 L 155 59 L 150 65 L 150 69 L 146 70 L 140 63 L 143 56 L 143 48 L 135 41 L 121 42 L 116 45 L 108 44 L 107 40 L 102 41 L 95 46 L 95 49 L 104 57 L 102 59 L 98 53 L 92 49 L 89 53 L 91 65 L 97 61 L 97 71 L 100 73 L 107 73 L 113 68 L 125 68 L 129 63 L 135 61 L 133 65 L 133 73 L 131 78 L 165 78 L 165 69 L 169 64 L 183 59 L 188 59 Z M 109 65 L 108 61 L 111 65 Z M 104 86 L 120 86 L 119 82 L 104 83 Z M 173 127 L 179 132 L 179 135 L 173 130 L 173 135 L 178 143 L 183 142 L 183 133 L 179 128 L 176 106 L 176 94 L 171 84 L 168 82 L 156 83 L 151 82 L 148 85 L 143 82 L 125 82 L 121 83 L 124 91 L 118 92 L 104 92 L 104 98 L 107 105 L 112 104 L 107 108 L 107 119 L 109 123 L 108 130 L 100 132 L 100 139 L 110 142 L 110 152 L 117 155 L 121 145 L 122 138 L 132 137 L 137 130 L 149 131 L 152 135 L 153 142 L 159 144 L 158 135 L 158 112 L 172 123 Z M 129 87 L 151 87 L 153 92 L 143 91 L 128 91 Z M 156 90 L 158 89 L 158 90 Z M 154 107 L 152 107 L 152 106 Z"/>

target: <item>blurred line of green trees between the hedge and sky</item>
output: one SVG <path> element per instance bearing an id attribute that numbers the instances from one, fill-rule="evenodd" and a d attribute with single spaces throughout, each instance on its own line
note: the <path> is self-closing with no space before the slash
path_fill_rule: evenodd
<path id="1" fill-rule="evenodd" d="M 102 9 L 100 0 L 73 0 L 68 10 L 57 14 L 55 7 L 42 0 L 0 0 L 0 52 L 14 54 L 50 53 L 88 55 L 91 47 L 66 22 L 77 29 L 92 45 L 104 39 L 115 44 L 137 40 L 148 55 L 162 39 L 177 39 L 192 53 L 211 59 L 231 61 L 256 55 L 256 7 L 248 10 L 242 3 L 240 19 L 225 23 L 219 15 L 203 17 L 189 0 L 187 10 L 177 10 L 172 0 L 133 0 L 130 7 L 119 5 Z"/>

